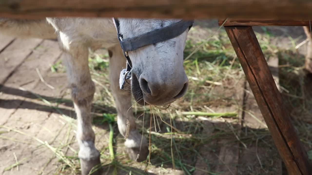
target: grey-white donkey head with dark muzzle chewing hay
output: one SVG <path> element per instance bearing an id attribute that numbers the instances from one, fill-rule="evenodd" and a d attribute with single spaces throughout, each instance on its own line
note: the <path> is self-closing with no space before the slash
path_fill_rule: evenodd
<path id="1" fill-rule="evenodd" d="M 178 21 L 119 18 L 119 33 L 126 40 Z M 131 90 L 140 105 L 166 105 L 185 94 L 188 78 L 183 69 L 183 50 L 187 33 L 188 28 L 172 39 L 128 52 L 132 62 Z"/>

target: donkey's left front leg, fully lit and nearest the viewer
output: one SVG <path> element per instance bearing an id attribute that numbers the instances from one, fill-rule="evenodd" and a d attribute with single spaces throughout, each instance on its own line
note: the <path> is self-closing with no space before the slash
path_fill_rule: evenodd
<path id="1" fill-rule="evenodd" d="M 88 48 L 80 43 L 70 43 L 67 46 L 70 47 L 63 48 L 64 61 L 77 115 L 77 140 L 80 149 L 78 157 L 81 173 L 87 175 L 94 166 L 100 164 L 100 153 L 94 145 L 95 134 L 92 130 L 90 114 L 95 85 L 91 80 L 88 67 Z M 93 174 L 100 174 L 100 170 Z"/>

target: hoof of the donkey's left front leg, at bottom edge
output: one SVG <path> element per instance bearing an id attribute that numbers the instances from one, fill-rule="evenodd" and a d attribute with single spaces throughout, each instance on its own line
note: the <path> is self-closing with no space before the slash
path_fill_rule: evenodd
<path id="1" fill-rule="evenodd" d="M 80 158 L 80 167 L 82 175 L 101 175 L 102 169 L 100 168 L 100 156 L 90 160 L 84 160 Z M 90 172 L 91 171 L 91 172 Z"/>

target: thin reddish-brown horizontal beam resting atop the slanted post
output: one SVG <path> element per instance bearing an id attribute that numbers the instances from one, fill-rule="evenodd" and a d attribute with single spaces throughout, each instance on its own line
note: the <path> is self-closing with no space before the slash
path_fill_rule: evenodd
<path id="1" fill-rule="evenodd" d="M 219 19 L 218 21 L 219 26 L 221 26 L 224 21 L 225 19 Z M 224 26 L 309 26 L 309 25 L 310 25 L 309 20 L 227 19 L 227 21 L 224 23 Z"/>

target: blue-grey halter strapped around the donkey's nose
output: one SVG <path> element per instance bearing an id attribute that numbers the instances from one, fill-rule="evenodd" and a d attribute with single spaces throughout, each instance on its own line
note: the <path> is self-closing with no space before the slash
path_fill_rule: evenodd
<path id="1" fill-rule="evenodd" d="M 127 59 L 126 69 L 123 69 L 120 72 L 120 77 L 119 77 L 120 89 L 123 89 L 125 82 L 128 83 L 127 80 L 131 79 L 132 77 L 132 73 L 131 73 L 132 63 L 128 55 L 129 51 L 137 50 L 146 45 L 156 44 L 161 41 L 175 38 L 178 35 L 181 35 L 187 28 L 190 29 L 193 26 L 193 22 L 194 22 L 194 21 L 181 20 L 169 26 L 155 29 L 153 31 L 146 32 L 142 35 L 138 35 L 138 36 L 124 40 L 123 35 L 120 33 L 120 30 L 119 30 L 119 25 L 120 25 L 119 20 L 117 18 L 113 18 L 113 21 L 116 27 L 117 37 L 118 37 L 121 49 L 124 53 L 124 57 Z"/>

